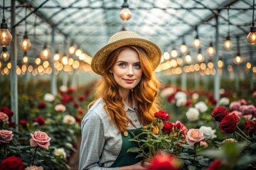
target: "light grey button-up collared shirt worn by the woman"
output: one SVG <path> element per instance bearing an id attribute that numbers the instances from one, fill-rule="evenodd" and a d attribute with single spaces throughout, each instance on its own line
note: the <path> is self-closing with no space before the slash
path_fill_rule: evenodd
<path id="1" fill-rule="evenodd" d="M 105 103 L 100 98 L 87 111 L 82 119 L 82 142 L 80 147 L 79 169 L 119 169 L 110 167 L 122 148 L 122 134 L 111 123 L 110 116 L 104 109 Z M 136 128 L 141 128 L 137 118 L 137 106 L 133 108 L 124 103 L 124 111 Z M 136 129 L 130 123 L 129 130 Z"/>

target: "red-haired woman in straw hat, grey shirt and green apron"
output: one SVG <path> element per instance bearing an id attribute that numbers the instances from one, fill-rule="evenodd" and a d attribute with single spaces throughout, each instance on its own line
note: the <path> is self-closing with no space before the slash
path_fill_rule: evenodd
<path id="1" fill-rule="evenodd" d="M 82 120 L 80 169 L 146 169 L 137 155 L 127 152 L 129 141 L 159 111 L 159 81 L 154 69 L 161 50 L 130 31 L 114 34 L 92 57 L 92 70 L 102 75 L 97 99 Z"/>

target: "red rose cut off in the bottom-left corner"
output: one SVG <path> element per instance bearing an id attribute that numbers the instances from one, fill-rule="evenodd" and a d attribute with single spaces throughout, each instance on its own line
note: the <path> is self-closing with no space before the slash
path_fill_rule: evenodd
<path id="1" fill-rule="evenodd" d="M 23 170 L 23 162 L 21 159 L 11 156 L 4 159 L 0 164 L 1 170 Z"/>

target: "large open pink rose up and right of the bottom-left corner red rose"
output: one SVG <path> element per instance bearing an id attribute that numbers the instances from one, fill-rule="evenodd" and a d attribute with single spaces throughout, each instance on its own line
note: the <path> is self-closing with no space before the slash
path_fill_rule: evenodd
<path id="1" fill-rule="evenodd" d="M 47 149 L 50 145 L 50 137 L 48 137 L 46 132 L 36 131 L 31 134 L 31 139 L 29 140 L 31 147 L 42 147 Z"/>

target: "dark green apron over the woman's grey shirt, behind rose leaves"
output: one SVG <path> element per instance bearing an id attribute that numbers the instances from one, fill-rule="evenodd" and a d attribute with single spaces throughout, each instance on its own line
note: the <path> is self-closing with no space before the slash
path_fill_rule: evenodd
<path id="1" fill-rule="evenodd" d="M 127 130 L 127 132 L 127 136 L 124 136 L 124 132 L 122 132 L 122 149 L 111 167 L 128 166 L 142 161 L 142 157 L 136 158 L 138 155 L 137 153 L 127 152 L 127 150 L 131 147 L 139 147 L 137 142 L 131 142 L 129 140 L 131 140 L 134 135 L 138 135 L 140 132 L 142 132 L 141 128 Z"/>

